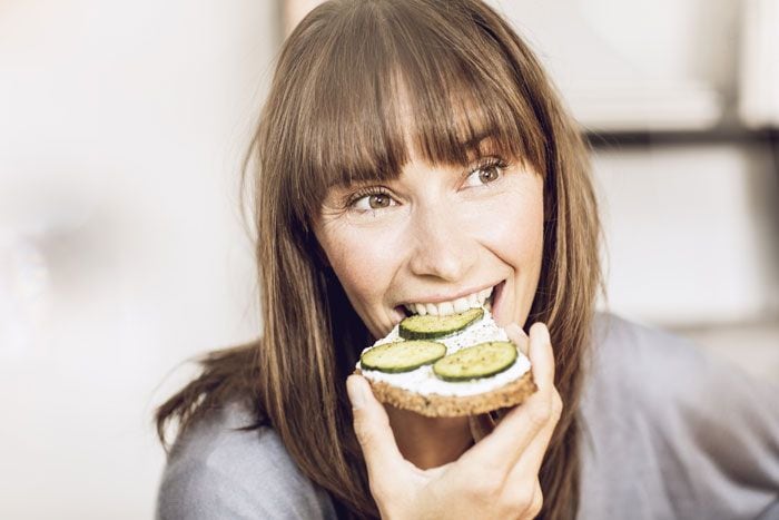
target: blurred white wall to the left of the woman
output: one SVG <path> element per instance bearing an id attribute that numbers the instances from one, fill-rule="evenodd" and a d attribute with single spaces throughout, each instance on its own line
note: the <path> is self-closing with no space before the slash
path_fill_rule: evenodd
<path id="1" fill-rule="evenodd" d="M 150 518 L 169 372 L 255 333 L 237 176 L 277 18 L 0 7 L 0 518 Z"/>

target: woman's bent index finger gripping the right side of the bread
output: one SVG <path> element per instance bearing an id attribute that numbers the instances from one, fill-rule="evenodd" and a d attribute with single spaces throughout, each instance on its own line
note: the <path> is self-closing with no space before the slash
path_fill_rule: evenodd
<path id="1" fill-rule="evenodd" d="M 509 412 L 490 435 L 465 454 L 491 464 L 504 475 L 512 471 L 531 442 L 543 430 L 551 429 L 549 432 L 551 436 L 551 431 L 559 418 L 559 414 L 555 416 L 554 410 L 555 399 L 559 399 L 559 395 L 555 398 L 554 389 L 554 354 L 549 330 L 543 323 L 536 323 L 530 330 L 529 354 L 533 380 L 539 390 L 523 404 Z M 549 439 L 540 441 L 543 449 L 540 450 L 540 455 L 535 453 L 538 450 L 533 450 L 531 453 L 533 463 L 535 459 L 543 459 L 543 452 L 549 443 Z"/>

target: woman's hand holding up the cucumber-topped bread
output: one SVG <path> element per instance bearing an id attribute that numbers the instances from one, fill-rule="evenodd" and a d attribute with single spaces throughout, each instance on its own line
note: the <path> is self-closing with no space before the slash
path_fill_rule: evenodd
<path id="1" fill-rule="evenodd" d="M 517 328 L 507 331 L 520 345 L 526 339 Z M 562 412 L 554 387 L 552 345 L 542 323 L 530 330 L 529 353 L 538 392 L 460 459 L 428 470 L 403 458 L 386 411 L 368 382 L 359 375 L 348 377 L 354 430 L 382 518 L 530 519 L 541 511 L 539 470 Z"/>

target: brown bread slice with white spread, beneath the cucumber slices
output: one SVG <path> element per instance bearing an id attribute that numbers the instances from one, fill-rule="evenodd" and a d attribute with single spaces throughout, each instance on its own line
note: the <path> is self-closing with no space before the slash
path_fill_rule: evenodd
<path id="1" fill-rule="evenodd" d="M 363 355 L 379 345 L 404 341 L 400 327 L 401 324 L 396 325 L 386 337 L 365 349 Z M 509 337 L 484 308 L 483 317 L 465 328 L 430 341 L 445 344 L 446 355 L 451 355 L 485 342 L 505 342 Z M 433 364 L 391 373 L 367 370 L 357 362 L 355 373 L 368 380 L 378 401 L 431 418 L 475 415 L 514 406 L 536 390 L 530 360 L 519 349 L 516 359 L 510 366 L 496 374 L 467 381 L 444 381 L 436 375 Z"/>

